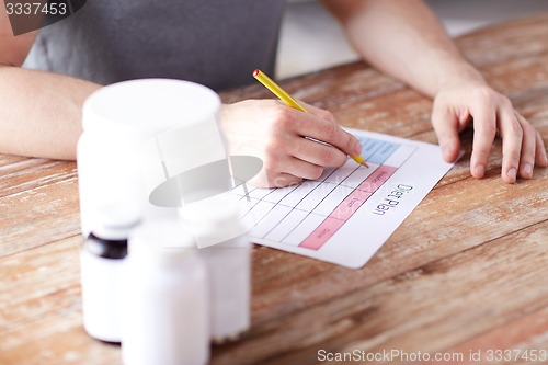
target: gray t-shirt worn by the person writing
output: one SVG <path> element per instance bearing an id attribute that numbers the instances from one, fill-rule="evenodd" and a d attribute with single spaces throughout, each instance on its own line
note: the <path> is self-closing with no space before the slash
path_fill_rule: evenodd
<path id="1" fill-rule="evenodd" d="M 25 67 L 109 84 L 173 78 L 214 90 L 274 72 L 284 0 L 89 0 L 43 30 Z"/>

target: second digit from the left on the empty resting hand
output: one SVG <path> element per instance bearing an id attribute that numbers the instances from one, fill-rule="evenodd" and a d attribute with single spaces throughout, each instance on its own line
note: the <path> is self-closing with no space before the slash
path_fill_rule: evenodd
<path id="1" fill-rule="evenodd" d="M 496 135 L 496 112 L 494 109 L 479 106 L 472 112 L 473 142 L 470 172 L 475 178 L 483 178 L 487 162 Z"/>

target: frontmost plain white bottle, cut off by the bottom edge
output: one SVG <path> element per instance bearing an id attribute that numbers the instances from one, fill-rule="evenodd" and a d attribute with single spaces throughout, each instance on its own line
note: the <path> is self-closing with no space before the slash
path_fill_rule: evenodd
<path id="1" fill-rule="evenodd" d="M 149 221 L 132 233 L 123 286 L 124 364 L 208 362 L 207 273 L 180 223 Z"/>

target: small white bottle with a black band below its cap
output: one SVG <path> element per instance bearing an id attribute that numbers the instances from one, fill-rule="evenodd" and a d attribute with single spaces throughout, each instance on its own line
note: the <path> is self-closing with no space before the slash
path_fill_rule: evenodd
<path id="1" fill-rule="evenodd" d="M 83 326 L 92 338 L 119 342 L 119 276 L 127 237 L 139 221 L 133 204 L 103 206 L 80 251 Z"/>

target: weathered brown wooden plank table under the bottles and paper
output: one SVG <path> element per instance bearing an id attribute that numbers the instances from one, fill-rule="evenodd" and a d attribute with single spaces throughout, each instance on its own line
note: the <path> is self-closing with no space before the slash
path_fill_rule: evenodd
<path id="1" fill-rule="evenodd" d="M 546 144 L 548 14 L 458 44 Z M 283 85 L 345 126 L 436 142 L 431 101 L 365 64 Z M 271 95 L 253 85 L 222 98 Z M 323 349 L 455 352 L 465 356 L 455 364 L 479 364 L 470 350 L 548 351 L 548 170 L 503 183 L 496 141 L 487 176 L 472 179 L 471 137 L 464 133 L 465 157 L 364 269 L 255 247 L 252 328 L 214 347 L 212 363 L 312 364 Z M 73 162 L 0 156 L 0 364 L 121 363 L 118 346 L 82 329 L 77 185 Z"/>

